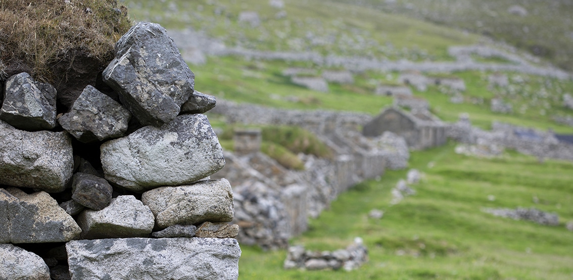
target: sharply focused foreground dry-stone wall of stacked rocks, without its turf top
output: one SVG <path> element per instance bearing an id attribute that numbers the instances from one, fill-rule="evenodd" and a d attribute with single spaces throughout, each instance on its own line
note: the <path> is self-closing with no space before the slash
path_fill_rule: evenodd
<path id="1" fill-rule="evenodd" d="M 0 279 L 237 279 L 214 98 L 155 23 L 120 38 L 103 79 L 119 102 L 87 86 L 58 117 L 53 86 L 6 81 Z"/>

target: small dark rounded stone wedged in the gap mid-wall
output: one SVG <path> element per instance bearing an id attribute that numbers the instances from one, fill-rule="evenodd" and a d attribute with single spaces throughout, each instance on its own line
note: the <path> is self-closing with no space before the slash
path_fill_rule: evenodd
<path id="1" fill-rule="evenodd" d="M 103 178 L 87 173 L 75 173 L 72 199 L 93 210 L 102 210 L 111 202 L 113 188 Z"/>

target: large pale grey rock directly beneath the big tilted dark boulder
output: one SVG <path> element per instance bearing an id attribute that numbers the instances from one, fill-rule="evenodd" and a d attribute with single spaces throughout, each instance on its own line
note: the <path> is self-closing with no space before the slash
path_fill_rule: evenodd
<path id="1" fill-rule="evenodd" d="M 101 145 L 105 179 L 135 192 L 180 186 L 223 168 L 217 135 L 205 115 L 182 115 Z"/>

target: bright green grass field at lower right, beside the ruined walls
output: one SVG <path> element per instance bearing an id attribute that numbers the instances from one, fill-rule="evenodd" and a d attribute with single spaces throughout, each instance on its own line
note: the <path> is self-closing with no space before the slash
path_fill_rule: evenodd
<path id="1" fill-rule="evenodd" d="M 240 279 L 571 279 L 573 232 L 563 223 L 573 220 L 573 164 L 540 164 L 515 152 L 476 159 L 456 155 L 453 146 L 412 154 L 411 167 L 425 173 L 413 186 L 416 195 L 391 206 L 390 190 L 406 171 L 388 171 L 379 182 L 360 183 L 339 196 L 311 220 L 309 231 L 291 240 L 307 249 L 335 250 L 360 236 L 370 262 L 359 270 L 283 270 L 284 250 L 243 246 Z M 557 212 L 562 225 L 481 211 L 519 206 Z M 384 211 L 382 219 L 367 218 L 373 208 Z"/>

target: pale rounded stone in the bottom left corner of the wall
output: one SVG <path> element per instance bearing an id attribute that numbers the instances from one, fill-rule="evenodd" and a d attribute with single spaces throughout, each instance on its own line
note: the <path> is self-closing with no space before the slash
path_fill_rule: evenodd
<path id="1" fill-rule="evenodd" d="M 40 256 L 12 244 L 0 244 L 0 279 L 50 280 L 50 270 Z"/>

